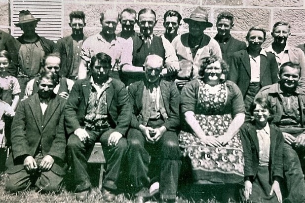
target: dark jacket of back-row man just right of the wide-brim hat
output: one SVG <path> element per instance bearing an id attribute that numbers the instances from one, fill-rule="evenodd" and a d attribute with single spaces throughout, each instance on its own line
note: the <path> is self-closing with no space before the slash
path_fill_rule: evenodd
<path id="1" fill-rule="evenodd" d="M 224 42 L 220 42 L 218 34 L 216 34 L 214 39 L 219 43 L 223 55 L 223 60 L 225 60 L 228 65 L 232 60 L 234 52 L 247 48 L 247 44 L 244 41 L 239 41 L 232 36 L 230 36 L 229 39 L 225 42 L 226 44 L 224 44 Z"/>

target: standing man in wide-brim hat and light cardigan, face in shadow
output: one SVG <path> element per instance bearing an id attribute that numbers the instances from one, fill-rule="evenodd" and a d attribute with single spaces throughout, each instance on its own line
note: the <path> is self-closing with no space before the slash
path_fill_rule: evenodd
<path id="1" fill-rule="evenodd" d="M 189 24 L 189 33 L 178 35 L 172 41 L 180 63 L 180 71 L 176 80 L 180 88 L 187 81 L 198 76 L 203 58 L 212 55 L 222 58 L 217 41 L 203 33 L 206 28 L 213 26 L 208 22 L 208 12 L 204 8 L 198 6 L 191 12 L 190 18 L 183 20 Z"/>

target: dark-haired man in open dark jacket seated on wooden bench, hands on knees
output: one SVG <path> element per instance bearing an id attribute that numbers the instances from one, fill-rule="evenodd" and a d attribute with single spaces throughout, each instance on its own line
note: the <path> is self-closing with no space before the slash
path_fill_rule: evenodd
<path id="1" fill-rule="evenodd" d="M 90 191 L 87 160 L 94 143 L 101 142 L 107 162 L 103 180 L 106 202 L 114 201 L 121 161 L 127 151 L 124 136 L 130 124 L 131 106 L 124 84 L 109 77 L 111 68 L 109 55 L 93 56 L 89 76 L 76 80 L 65 108 L 67 158 L 79 201 L 85 200 Z"/>

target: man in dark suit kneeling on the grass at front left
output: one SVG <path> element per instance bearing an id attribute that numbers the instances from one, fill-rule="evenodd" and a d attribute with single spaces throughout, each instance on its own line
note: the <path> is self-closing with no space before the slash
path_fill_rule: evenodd
<path id="1" fill-rule="evenodd" d="M 32 184 L 45 192 L 59 192 L 65 174 L 64 106 L 53 88 L 58 75 L 44 72 L 38 93 L 22 101 L 12 123 L 12 153 L 6 166 L 6 190 L 17 192 Z"/>

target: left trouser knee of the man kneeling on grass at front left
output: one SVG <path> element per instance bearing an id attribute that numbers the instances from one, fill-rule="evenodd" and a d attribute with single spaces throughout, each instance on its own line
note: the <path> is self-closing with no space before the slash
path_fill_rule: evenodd
<path id="1" fill-rule="evenodd" d="M 26 190 L 31 186 L 31 175 L 25 169 L 7 173 L 4 178 L 5 189 L 10 192 Z"/>

